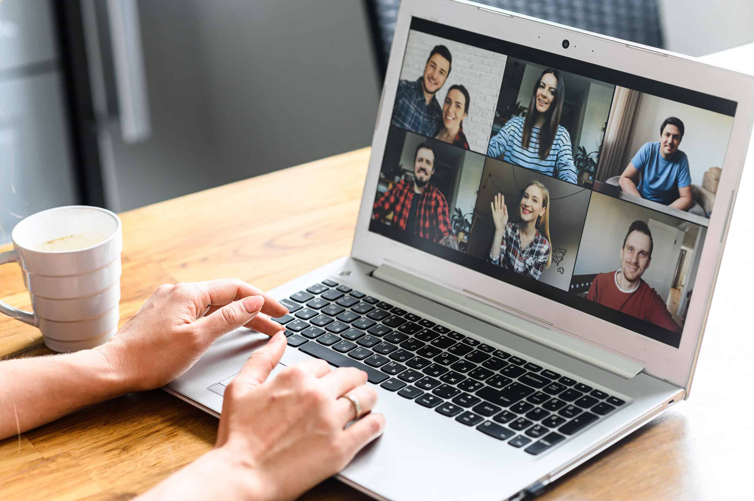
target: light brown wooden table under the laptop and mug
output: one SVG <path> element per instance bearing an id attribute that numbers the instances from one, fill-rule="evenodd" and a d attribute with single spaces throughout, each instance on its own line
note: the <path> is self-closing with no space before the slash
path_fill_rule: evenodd
<path id="1" fill-rule="evenodd" d="M 754 426 L 746 384 L 754 375 L 754 337 L 742 312 L 752 310 L 754 270 L 741 267 L 740 257 L 748 257 L 754 229 L 752 157 L 691 400 L 556 481 L 540 499 L 749 496 L 743 482 L 752 473 Z M 122 214 L 121 321 L 161 283 L 237 276 L 271 289 L 347 255 L 368 158 L 365 148 Z M 0 286 L 0 297 L 29 309 L 17 267 L 0 267 Z M 46 353 L 35 328 L 0 317 L 0 354 Z M 0 441 L 0 499 L 129 499 L 208 451 L 216 427 L 215 418 L 161 390 L 130 393 Z M 303 499 L 367 498 L 329 480 Z"/>

